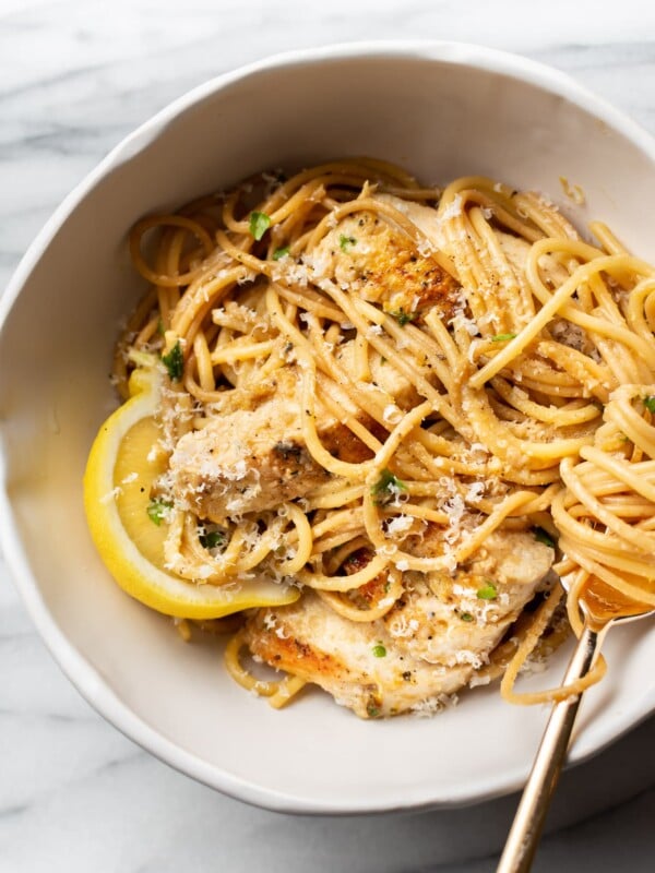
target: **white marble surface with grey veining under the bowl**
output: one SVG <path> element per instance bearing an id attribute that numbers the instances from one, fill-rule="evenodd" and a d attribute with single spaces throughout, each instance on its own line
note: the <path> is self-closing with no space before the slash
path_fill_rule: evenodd
<path id="1" fill-rule="evenodd" d="M 274 51 L 416 37 L 477 41 L 550 63 L 655 133 L 650 0 L 609 11 L 586 0 L 0 0 L 0 288 L 63 195 L 184 91 Z M 654 740 L 652 719 L 565 775 L 536 871 L 653 869 Z M 609 810 L 607 784 L 622 800 Z M 595 814 L 558 828 L 575 817 L 581 792 Z M 495 869 L 493 846 L 513 803 L 307 820 L 224 798 L 91 709 L 45 650 L 0 558 L 3 873 L 483 873 Z M 476 839 L 462 838 L 463 823 Z M 476 853 L 483 857 L 464 860 Z M 448 860 L 437 866 L 437 857 Z"/>

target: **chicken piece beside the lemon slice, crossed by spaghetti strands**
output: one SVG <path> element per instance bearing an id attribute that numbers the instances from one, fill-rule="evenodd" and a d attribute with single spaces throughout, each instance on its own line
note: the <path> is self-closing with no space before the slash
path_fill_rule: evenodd
<path id="1" fill-rule="evenodd" d="M 335 357 L 343 370 L 356 375 L 354 342 L 342 344 Z M 378 352 L 371 351 L 369 361 L 371 397 L 395 420 L 396 407 L 412 408 L 418 395 Z M 319 381 L 323 384 L 325 380 L 321 376 Z M 343 387 L 332 383 L 331 393 L 345 416 L 357 418 L 378 439 L 384 439 L 384 428 L 362 414 Z M 269 385 L 243 393 L 239 403 L 242 408 L 226 404 L 224 414 L 201 430 L 184 434 L 170 458 L 176 504 L 216 523 L 307 495 L 330 478 L 305 445 L 295 367 L 281 368 Z M 370 449 L 320 402 L 315 405 L 315 423 L 319 439 L 334 457 L 360 463 L 372 456 Z"/>

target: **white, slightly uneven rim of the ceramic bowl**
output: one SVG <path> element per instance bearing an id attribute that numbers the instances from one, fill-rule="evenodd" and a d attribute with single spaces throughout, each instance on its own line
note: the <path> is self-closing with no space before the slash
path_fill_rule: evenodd
<path id="1" fill-rule="evenodd" d="M 655 164 L 655 137 L 640 124 L 598 97 L 585 86 L 579 84 L 569 74 L 545 63 L 473 43 L 451 40 L 362 40 L 338 43 L 276 53 L 261 60 L 241 65 L 193 87 L 180 97 L 167 104 L 154 116 L 140 124 L 133 132 L 123 137 L 64 198 L 50 218 L 37 234 L 25 254 L 21 259 L 13 276 L 0 298 L 0 343 L 9 314 L 23 287 L 27 284 L 32 272 L 44 251 L 64 225 L 79 204 L 94 188 L 115 169 L 128 163 L 135 155 L 146 150 L 174 121 L 201 104 L 206 98 L 229 87 L 237 82 L 259 76 L 269 70 L 312 65 L 338 60 L 417 60 L 436 61 L 455 67 L 471 67 L 476 70 L 504 74 L 526 82 L 561 96 L 629 140 Z M 0 453 L 0 550 L 4 555 L 10 576 L 25 605 L 39 636 L 55 661 L 78 689 L 82 696 L 126 737 L 142 749 L 172 766 L 175 769 L 196 779 L 211 788 L 222 791 L 239 800 L 264 809 L 285 813 L 309 814 L 365 814 L 392 812 L 396 810 L 452 809 L 472 803 L 483 802 L 493 797 L 510 793 L 521 787 L 527 768 L 516 766 L 512 772 L 502 774 L 502 778 L 488 778 L 486 782 L 475 782 L 475 790 L 462 786 L 461 790 L 448 798 L 429 797 L 425 792 L 414 793 L 404 790 L 403 799 L 390 802 L 385 797 L 373 797 L 367 802 L 354 802 L 344 798 L 338 802 L 321 799 L 296 797 L 284 790 L 274 790 L 254 785 L 246 779 L 227 774 L 215 765 L 209 764 L 193 753 L 178 746 L 151 727 L 105 684 L 102 674 L 91 666 L 83 654 L 67 638 L 50 614 L 41 595 L 36 577 L 32 574 L 27 551 L 19 536 L 14 521 L 11 500 L 5 487 L 7 457 Z M 633 704 L 630 710 L 623 711 L 623 720 L 618 730 L 612 730 L 585 754 L 576 754 L 575 748 L 570 756 L 571 763 L 583 760 L 599 752 L 617 740 L 622 733 L 635 727 L 655 709 L 655 687 L 648 695 Z"/>

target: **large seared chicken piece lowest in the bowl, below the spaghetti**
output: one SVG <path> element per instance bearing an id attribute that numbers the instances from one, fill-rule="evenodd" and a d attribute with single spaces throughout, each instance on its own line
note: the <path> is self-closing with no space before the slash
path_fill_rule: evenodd
<path id="1" fill-rule="evenodd" d="M 434 545 L 434 543 L 433 543 Z M 361 718 L 434 711 L 484 667 L 553 559 L 529 531 L 500 529 L 451 577 L 404 574 L 382 619 L 342 618 L 314 591 L 247 623 L 255 657 L 314 682 Z"/>

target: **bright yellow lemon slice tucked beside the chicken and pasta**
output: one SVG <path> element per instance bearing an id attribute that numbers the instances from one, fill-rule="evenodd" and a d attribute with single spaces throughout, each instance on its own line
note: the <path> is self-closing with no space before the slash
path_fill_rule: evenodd
<path id="1" fill-rule="evenodd" d="M 265 578 L 221 587 L 195 584 L 164 566 L 167 524 L 147 514 L 151 486 L 165 461 L 152 452 L 162 375 L 140 367 L 130 379 L 130 399 L 102 426 L 84 474 L 84 509 L 92 538 L 107 570 L 142 603 L 187 619 L 216 619 L 242 609 L 297 600 L 297 588 Z"/>

